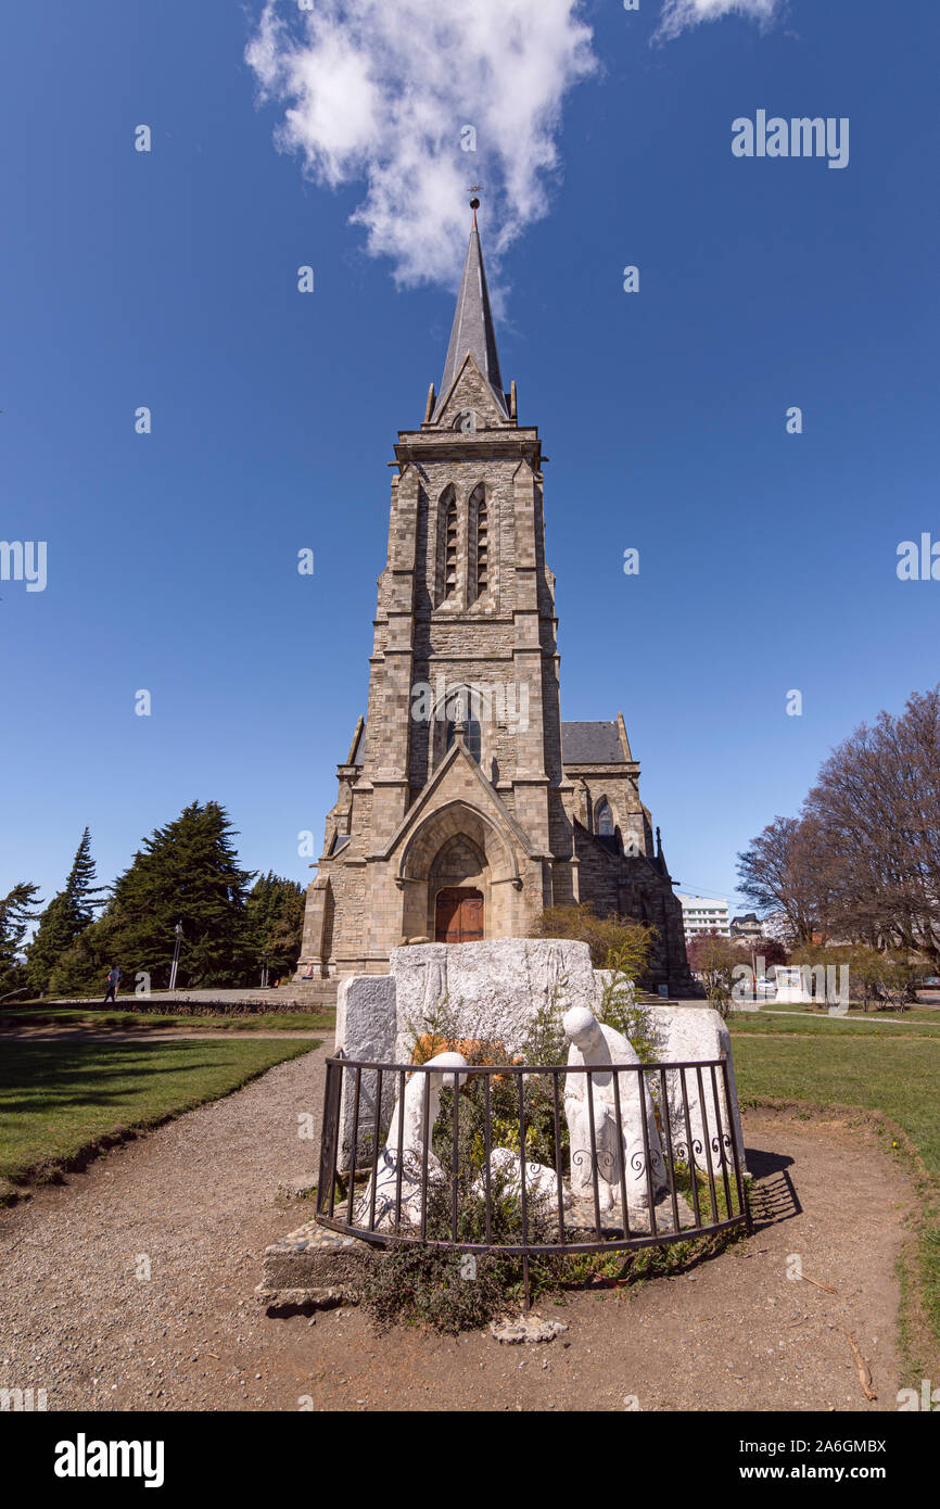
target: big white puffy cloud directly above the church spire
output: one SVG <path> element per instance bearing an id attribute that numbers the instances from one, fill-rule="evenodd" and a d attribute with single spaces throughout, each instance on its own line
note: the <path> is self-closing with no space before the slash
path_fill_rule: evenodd
<path id="1" fill-rule="evenodd" d="M 315 6 L 267 0 L 246 57 L 285 107 L 278 143 L 318 183 L 365 186 L 353 219 L 398 282 L 453 282 L 472 183 L 495 254 L 546 213 L 564 97 L 596 66 L 579 0 Z M 468 125 L 475 152 L 460 146 Z"/>

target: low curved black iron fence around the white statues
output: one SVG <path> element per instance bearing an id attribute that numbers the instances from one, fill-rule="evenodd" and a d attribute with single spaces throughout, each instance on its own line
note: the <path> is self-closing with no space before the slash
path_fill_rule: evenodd
<path id="1" fill-rule="evenodd" d="M 317 1219 L 365 1242 L 629 1251 L 750 1227 L 744 1177 L 724 1058 L 327 1059 Z"/>

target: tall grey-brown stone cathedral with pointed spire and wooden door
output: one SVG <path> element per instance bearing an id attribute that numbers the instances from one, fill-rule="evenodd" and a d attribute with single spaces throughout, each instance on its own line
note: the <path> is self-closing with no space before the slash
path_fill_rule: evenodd
<path id="1" fill-rule="evenodd" d="M 403 943 L 525 937 L 590 901 L 658 931 L 688 994 L 682 910 L 623 717 L 563 723 L 542 442 L 504 391 L 477 201 L 441 388 L 398 432 L 368 703 L 308 889 L 296 985 L 333 1000 Z"/>

